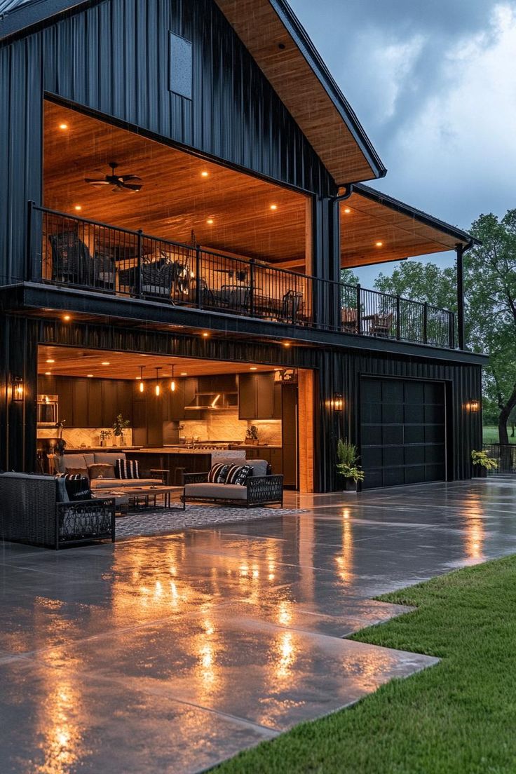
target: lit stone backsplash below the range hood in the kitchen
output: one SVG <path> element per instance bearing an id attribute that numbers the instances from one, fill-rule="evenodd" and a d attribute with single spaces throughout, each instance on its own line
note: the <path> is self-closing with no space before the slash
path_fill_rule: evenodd
<path id="1" fill-rule="evenodd" d="M 239 420 L 236 414 L 207 413 L 200 420 L 183 420 L 179 435 L 200 440 L 245 440 L 248 427 L 255 425 L 260 444 L 282 445 L 281 420 Z"/>

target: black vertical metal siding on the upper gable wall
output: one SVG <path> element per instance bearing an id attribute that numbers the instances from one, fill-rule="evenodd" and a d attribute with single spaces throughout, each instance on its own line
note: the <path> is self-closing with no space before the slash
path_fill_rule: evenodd
<path id="1" fill-rule="evenodd" d="M 193 43 L 192 100 L 169 91 L 169 31 Z M 329 173 L 212 0 L 107 0 L 0 48 L 2 275 L 23 276 L 26 202 L 41 198 L 43 91 L 332 208 Z M 317 234 L 315 268 L 334 276 L 329 240 Z"/>

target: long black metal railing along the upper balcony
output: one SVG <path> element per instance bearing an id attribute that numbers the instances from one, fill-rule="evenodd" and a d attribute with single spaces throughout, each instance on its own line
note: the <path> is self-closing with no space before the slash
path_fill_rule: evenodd
<path id="1" fill-rule="evenodd" d="M 28 276 L 321 330 L 454 348 L 453 313 L 29 204 Z"/>

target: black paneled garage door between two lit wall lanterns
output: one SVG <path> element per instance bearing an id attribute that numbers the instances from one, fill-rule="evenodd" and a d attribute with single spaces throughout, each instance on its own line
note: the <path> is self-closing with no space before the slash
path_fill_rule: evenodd
<path id="1" fill-rule="evenodd" d="M 361 379 L 364 488 L 446 478 L 442 382 Z"/>

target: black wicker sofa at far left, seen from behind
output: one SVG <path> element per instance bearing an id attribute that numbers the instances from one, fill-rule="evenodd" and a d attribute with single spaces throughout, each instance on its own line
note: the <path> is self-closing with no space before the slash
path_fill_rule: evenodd
<path id="1" fill-rule="evenodd" d="M 59 502 L 53 476 L 0 475 L 2 539 L 60 549 L 114 542 L 114 498 Z"/>

